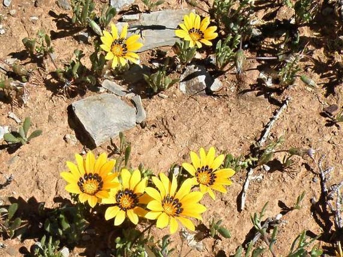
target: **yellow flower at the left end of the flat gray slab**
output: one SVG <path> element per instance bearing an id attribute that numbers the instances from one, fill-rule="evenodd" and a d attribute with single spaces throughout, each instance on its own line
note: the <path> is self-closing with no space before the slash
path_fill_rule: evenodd
<path id="1" fill-rule="evenodd" d="M 118 36 L 118 29 L 114 24 L 111 24 L 111 33 L 103 31 L 103 35 L 101 37 L 103 45 L 100 47 L 107 52 L 105 59 L 113 60 L 112 68 L 117 67 L 119 63 L 125 66 L 127 61 L 138 62 L 139 56 L 134 52 L 140 49 L 143 44 L 137 42 L 139 35 L 132 35 L 126 39 L 127 25 L 123 27 L 120 36 Z"/>

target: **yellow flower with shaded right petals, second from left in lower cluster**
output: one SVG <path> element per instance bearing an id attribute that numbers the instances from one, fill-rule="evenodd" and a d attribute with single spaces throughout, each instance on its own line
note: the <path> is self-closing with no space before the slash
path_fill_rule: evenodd
<path id="1" fill-rule="evenodd" d="M 144 193 L 147 186 L 147 178 L 141 179 L 141 172 L 136 169 L 132 174 L 127 169 L 120 173 L 122 182 L 118 188 L 111 189 L 110 197 L 102 199 L 102 203 L 110 203 L 114 206 L 108 207 L 105 219 L 114 218 L 114 225 L 123 223 L 126 216 L 132 223 L 138 223 L 138 216 L 144 217 L 147 213 L 140 204 L 146 204 L 151 198 Z M 116 181 L 119 182 L 118 178 Z"/>

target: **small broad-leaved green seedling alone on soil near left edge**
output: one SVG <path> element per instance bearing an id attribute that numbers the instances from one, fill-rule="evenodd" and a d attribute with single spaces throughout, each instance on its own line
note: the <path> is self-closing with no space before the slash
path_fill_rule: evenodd
<path id="1" fill-rule="evenodd" d="M 29 117 L 26 117 L 23 123 L 23 126 L 19 128 L 18 132 L 6 133 L 4 139 L 6 142 L 11 144 L 22 144 L 25 145 L 30 143 L 30 140 L 38 137 L 42 134 L 42 130 L 35 130 L 28 136 L 29 128 L 31 126 L 31 120 Z"/>

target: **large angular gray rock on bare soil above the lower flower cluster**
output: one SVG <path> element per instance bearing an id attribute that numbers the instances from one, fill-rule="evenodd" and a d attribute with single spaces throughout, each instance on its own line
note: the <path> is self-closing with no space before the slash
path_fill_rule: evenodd
<path id="1" fill-rule="evenodd" d="M 95 146 L 136 125 L 136 110 L 112 94 L 91 96 L 72 104 L 73 111 Z"/>

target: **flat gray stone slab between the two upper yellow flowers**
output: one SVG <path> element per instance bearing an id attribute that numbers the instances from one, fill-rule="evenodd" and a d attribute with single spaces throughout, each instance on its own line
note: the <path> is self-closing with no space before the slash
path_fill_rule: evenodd
<path id="1" fill-rule="evenodd" d="M 144 46 L 137 52 L 144 52 L 157 47 L 173 46 L 178 39 L 175 29 L 190 10 L 163 10 L 141 14 L 139 22 L 130 26 L 131 34 L 140 34 Z"/>

